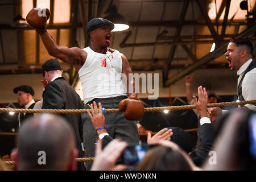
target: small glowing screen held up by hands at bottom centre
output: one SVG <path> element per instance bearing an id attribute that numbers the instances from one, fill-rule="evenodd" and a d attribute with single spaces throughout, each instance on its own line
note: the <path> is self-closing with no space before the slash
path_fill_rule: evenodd
<path id="1" fill-rule="evenodd" d="M 123 151 L 123 164 L 133 165 L 140 162 L 144 158 L 147 150 L 149 150 L 153 146 L 155 145 L 142 144 L 127 146 Z"/>

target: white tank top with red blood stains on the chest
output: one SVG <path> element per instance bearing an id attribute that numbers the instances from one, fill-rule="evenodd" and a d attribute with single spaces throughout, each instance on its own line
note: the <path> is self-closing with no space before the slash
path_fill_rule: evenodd
<path id="1" fill-rule="evenodd" d="M 127 96 L 122 81 L 121 53 L 114 50 L 110 54 L 94 52 L 84 48 L 87 58 L 79 70 L 84 104 L 94 98 Z"/>

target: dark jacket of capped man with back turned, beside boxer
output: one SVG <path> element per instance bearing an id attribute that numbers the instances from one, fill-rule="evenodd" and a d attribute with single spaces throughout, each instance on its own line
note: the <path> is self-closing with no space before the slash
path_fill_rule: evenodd
<path id="1" fill-rule="evenodd" d="M 42 109 L 84 109 L 80 96 L 72 88 L 71 85 L 65 81 L 65 78 L 59 77 L 56 80 L 49 82 L 43 92 L 43 106 Z M 82 158 L 82 120 L 81 114 L 60 114 L 73 127 L 77 148 L 79 149 L 79 158 Z M 77 163 L 79 170 L 84 170 L 82 163 Z"/>

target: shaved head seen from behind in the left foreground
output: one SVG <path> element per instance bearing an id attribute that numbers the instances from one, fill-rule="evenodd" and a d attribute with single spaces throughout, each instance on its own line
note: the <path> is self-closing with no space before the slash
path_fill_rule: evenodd
<path id="1" fill-rule="evenodd" d="M 41 114 L 24 122 L 14 153 L 18 170 L 75 170 L 78 150 L 64 118 Z"/>

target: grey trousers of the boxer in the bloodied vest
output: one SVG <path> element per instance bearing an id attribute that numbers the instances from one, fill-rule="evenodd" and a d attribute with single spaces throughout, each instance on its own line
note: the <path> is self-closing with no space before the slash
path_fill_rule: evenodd
<path id="1" fill-rule="evenodd" d="M 105 109 L 118 109 L 118 104 L 121 100 L 127 98 L 126 96 L 114 97 L 114 98 L 96 98 L 85 105 L 85 109 L 90 109 L 87 104 L 92 104 L 93 101 L 101 102 L 102 107 Z M 129 144 L 139 144 L 139 132 L 135 121 L 130 121 L 123 118 L 122 113 L 106 113 L 105 126 L 108 127 L 107 131 L 110 137 L 119 138 Z M 98 134 L 92 125 L 92 121 L 87 113 L 82 114 L 82 125 L 84 133 L 84 150 L 85 157 L 94 157 L 95 143 L 98 140 Z M 86 170 L 89 170 L 92 166 L 92 162 L 86 162 Z"/>

